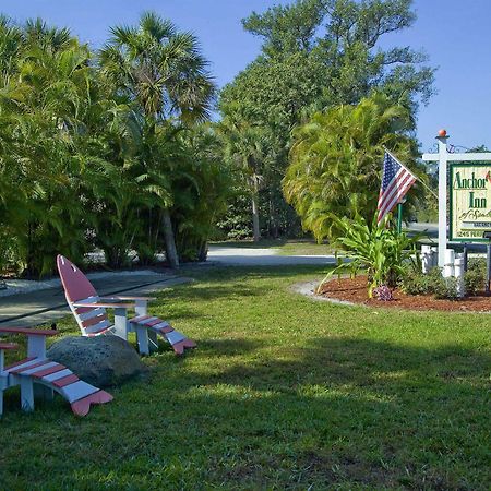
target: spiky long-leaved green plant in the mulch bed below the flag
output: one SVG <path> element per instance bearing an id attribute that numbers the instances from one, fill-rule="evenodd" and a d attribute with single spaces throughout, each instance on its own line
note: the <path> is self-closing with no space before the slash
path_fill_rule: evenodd
<path id="1" fill-rule="evenodd" d="M 356 275 L 366 270 L 369 298 L 372 298 L 375 287 L 395 287 L 405 272 L 405 264 L 412 261 L 419 237 L 408 237 L 405 232 L 398 233 L 387 228 L 388 218 L 378 226 L 375 216 L 371 227 L 361 217 L 350 220 L 333 216 L 332 220 L 338 230 L 335 244 L 347 251 L 348 261 L 340 262 L 320 286 L 342 271 L 347 270 Z"/>

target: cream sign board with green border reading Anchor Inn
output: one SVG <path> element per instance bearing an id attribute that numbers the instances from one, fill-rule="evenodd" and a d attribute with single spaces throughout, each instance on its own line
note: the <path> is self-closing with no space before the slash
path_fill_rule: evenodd
<path id="1" fill-rule="evenodd" d="M 458 242 L 489 242 L 491 231 L 491 163 L 450 166 L 450 237 Z"/>

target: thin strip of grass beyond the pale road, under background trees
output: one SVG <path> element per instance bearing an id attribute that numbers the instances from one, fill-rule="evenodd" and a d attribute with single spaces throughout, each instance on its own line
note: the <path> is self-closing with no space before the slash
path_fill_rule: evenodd
<path id="1" fill-rule="evenodd" d="M 246 249 L 277 249 L 279 255 L 325 255 L 334 254 L 335 252 L 335 249 L 327 243 L 316 243 L 313 240 L 307 239 L 261 239 L 259 242 L 253 242 L 252 240 L 238 240 L 213 242 L 212 246 Z"/>

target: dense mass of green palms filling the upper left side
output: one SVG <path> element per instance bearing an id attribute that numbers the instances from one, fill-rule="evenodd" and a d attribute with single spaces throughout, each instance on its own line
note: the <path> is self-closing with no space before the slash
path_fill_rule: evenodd
<path id="1" fill-rule="evenodd" d="M 214 91 L 196 38 L 147 13 L 115 27 L 98 61 L 67 29 L 0 19 L 2 270 L 40 276 L 95 247 L 109 266 L 134 249 L 149 260 L 171 207 L 170 230 L 206 251 L 228 173 L 209 135 L 197 148 L 182 134 L 200 140 Z"/>

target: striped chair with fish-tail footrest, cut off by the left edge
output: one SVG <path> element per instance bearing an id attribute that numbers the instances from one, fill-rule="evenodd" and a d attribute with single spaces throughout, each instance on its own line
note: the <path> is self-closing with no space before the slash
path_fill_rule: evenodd
<path id="1" fill-rule="evenodd" d="M 1 334 L 22 334 L 27 336 L 27 358 L 4 367 L 3 351 L 16 349 L 12 343 L 0 343 L 0 416 L 3 412 L 3 391 L 15 385 L 21 386 L 21 407 L 25 411 L 34 410 L 35 393 L 43 392 L 52 397 L 53 392 L 64 397 L 77 416 L 85 416 L 92 404 L 112 400 L 106 391 L 94 387 L 80 380 L 61 363 L 46 358 L 46 337 L 57 334 L 52 330 L 27 327 L 0 327 Z"/>

